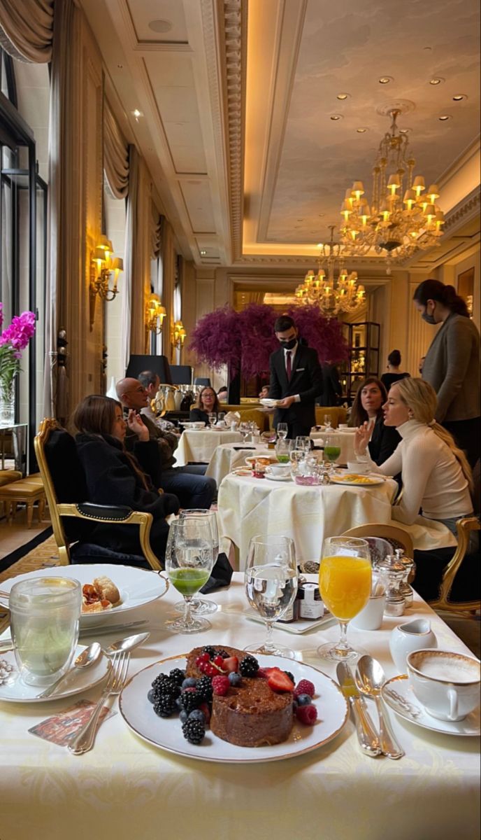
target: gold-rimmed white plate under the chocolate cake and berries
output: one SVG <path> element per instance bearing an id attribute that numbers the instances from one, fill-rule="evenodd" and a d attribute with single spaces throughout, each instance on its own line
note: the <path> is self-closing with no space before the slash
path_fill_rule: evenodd
<path id="1" fill-rule="evenodd" d="M 316 686 L 314 703 L 317 706 L 317 721 L 313 727 L 295 721 L 290 737 L 284 743 L 271 747 L 236 747 L 233 743 L 217 738 L 210 729 L 200 744 L 186 741 L 177 716 L 157 717 L 147 699 L 153 680 L 161 672 L 168 674 L 173 668 L 186 667 L 186 654 L 171 659 L 161 659 L 134 675 L 123 688 L 119 698 L 120 713 L 132 729 L 144 741 L 154 744 L 170 753 L 187 756 L 201 761 L 220 761 L 232 764 L 252 764 L 264 761 L 280 761 L 291 756 L 309 753 L 312 749 L 335 738 L 348 719 L 348 705 L 339 686 L 322 671 L 293 659 L 281 656 L 258 656 L 259 665 L 264 668 L 277 666 L 288 669 L 295 682 L 306 679 Z"/>

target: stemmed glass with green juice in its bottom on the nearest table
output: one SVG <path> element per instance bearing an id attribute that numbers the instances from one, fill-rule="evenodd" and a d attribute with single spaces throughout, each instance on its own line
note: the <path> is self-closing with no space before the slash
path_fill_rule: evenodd
<path id="1" fill-rule="evenodd" d="M 200 633 L 210 622 L 191 614 L 192 596 L 201 589 L 212 572 L 214 545 L 207 521 L 198 517 L 175 519 L 169 528 L 165 549 L 165 571 L 170 583 L 184 596 L 184 615 L 166 626 L 175 633 Z"/>

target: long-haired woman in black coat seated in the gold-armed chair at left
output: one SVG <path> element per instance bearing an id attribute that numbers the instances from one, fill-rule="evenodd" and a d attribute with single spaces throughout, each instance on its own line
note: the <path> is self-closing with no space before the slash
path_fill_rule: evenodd
<path id="1" fill-rule="evenodd" d="M 177 496 L 155 489 L 150 476 L 160 475 L 159 447 L 149 439 L 142 419 L 108 396 L 86 396 L 76 408 L 73 422 L 78 429 L 76 446 L 86 475 L 89 501 L 98 505 L 125 505 L 151 513 L 154 522 L 150 544 L 159 559 L 165 557 L 169 526 L 165 517 L 179 510 Z M 138 435 L 134 455 L 127 452 L 123 439 L 128 428 Z M 144 468 L 144 469 L 143 469 Z M 100 523 L 92 542 L 126 554 L 142 554 L 139 528 L 135 525 Z"/>

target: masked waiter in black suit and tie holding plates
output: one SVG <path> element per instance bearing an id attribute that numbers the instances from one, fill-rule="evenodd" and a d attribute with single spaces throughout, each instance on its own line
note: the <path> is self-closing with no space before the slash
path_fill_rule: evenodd
<path id="1" fill-rule="evenodd" d="M 280 349 L 270 354 L 269 397 L 278 400 L 274 427 L 287 423 L 288 438 L 309 435 L 316 425 L 316 397 L 322 394 L 322 370 L 316 350 L 298 340 L 298 330 L 289 315 L 274 323 Z"/>

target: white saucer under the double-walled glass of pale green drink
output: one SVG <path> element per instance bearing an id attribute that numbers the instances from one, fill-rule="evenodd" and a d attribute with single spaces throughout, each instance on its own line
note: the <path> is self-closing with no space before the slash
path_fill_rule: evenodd
<path id="1" fill-rule="evenodd" d="M 76 647 L 76 656 L 85 650 L 85 645 Z M 76 668 L 65 677 L 59 690 L 51 697 L 39 697 L 44 687 L 39 685 L 24 685 L 20 680 L 15 654 L 13 650 L 0 655 L 0 701 L 5 703 L 52 703 L 63 700 L 79 691 L 88 691 L 94 685 L 102 682 L 111 667 L 110 659 L 104 654 L 90 668 Z"/>

